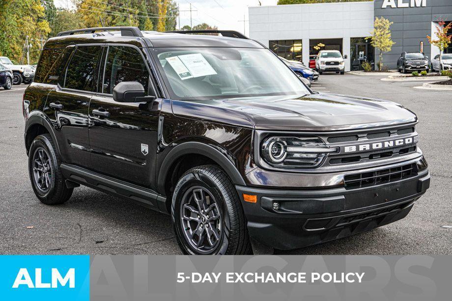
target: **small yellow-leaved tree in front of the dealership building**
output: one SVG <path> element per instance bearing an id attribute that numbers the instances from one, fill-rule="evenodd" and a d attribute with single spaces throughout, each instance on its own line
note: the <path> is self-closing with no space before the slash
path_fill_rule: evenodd
<path id="1" fill-rule="evenodd" d="M 376 47 L 380 50 L 380 59 L 378 60 L 378 70 L 383 68 L 383 53 L 390 52 L 395 42 L 391 39 L 391 25 L 394 22 L 389 22 L 388 19 L 384 17 L 375 18 L 373 23 L 373 31 L 371 36 L 367 37 L 370 39 L 370 45 Z"/>

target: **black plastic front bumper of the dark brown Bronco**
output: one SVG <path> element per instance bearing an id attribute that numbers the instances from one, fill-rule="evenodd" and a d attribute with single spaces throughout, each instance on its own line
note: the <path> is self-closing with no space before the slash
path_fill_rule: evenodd
<path id="1" fill-rule="evenodd" d="M 236 189 L 242 199 L 250 237 L 265 246 L 287 250 L 402 219 L 429 184 L 430 174 L 424 169 L 409 179 L 351 190 L 269 190 L 246 186 L 236 186 Z M 243 201 L 243 193 L 257 195 L 257 202 Z"/>

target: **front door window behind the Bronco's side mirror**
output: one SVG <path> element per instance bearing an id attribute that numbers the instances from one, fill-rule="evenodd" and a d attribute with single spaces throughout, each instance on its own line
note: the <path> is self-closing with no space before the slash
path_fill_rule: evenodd
<path id="1" fill-rule="evenodd" d="M 103 92 L 113 94 L 120 82 L 140 82 L 147 92 L 149 73 L 140 53 L 125 46 L 109 46 L 105 65 Z"/>

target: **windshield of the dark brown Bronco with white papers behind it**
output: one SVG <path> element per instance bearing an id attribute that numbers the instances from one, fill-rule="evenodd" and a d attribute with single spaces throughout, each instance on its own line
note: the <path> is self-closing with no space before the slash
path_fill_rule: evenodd
<path id="1" fill-rule="evenodd" d="M 173 99 L 306 95 L 310 92 L 267 49 L 154 48 Z"/>

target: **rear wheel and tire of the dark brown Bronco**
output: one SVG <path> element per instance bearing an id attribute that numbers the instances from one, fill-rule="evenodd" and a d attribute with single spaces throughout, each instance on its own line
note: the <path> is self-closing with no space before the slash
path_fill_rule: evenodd
<path id="1" fill-rule="evenodd" d="M 28 172 L 34 193 L 46 205 L 66 202 L 74 190 L 67 188 L 60 164 L 52 137 L 43 134 L 34 138 L 28 152 Z"/>

